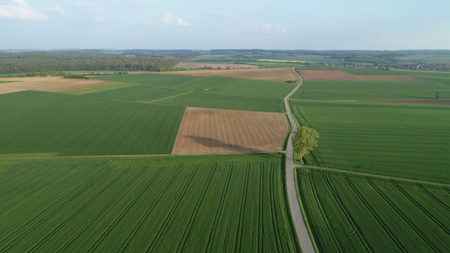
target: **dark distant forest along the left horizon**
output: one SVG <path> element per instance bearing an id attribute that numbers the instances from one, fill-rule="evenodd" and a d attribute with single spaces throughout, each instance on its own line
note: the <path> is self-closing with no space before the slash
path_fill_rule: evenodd
<path id="1" fill-rule="evenodd" d="M 60 71 L 165 71 L 178 64 L 174 57 L 135 56 L 101 51 L 0 53 L 0 74 Z"/>

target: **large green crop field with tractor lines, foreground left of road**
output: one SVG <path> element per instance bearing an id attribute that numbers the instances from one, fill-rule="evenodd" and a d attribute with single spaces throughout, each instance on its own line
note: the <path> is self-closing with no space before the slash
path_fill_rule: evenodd
<path id="1" fill-rule="evenodd" d="M 0 252 L 299 252 L 282 161 L 1 160 Z"/>

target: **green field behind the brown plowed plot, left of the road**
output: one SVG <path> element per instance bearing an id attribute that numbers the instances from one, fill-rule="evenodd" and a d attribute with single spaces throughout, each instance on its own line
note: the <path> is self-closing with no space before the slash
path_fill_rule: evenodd
<path id="1" fill-rule="evenodd" d="M 133 85 L 84 96 L 157 105 L 285 112 L 283 97 L 295 84 L 232 77 L 188 77 L 171 74 L 129 74 L 96 77 Z"/>

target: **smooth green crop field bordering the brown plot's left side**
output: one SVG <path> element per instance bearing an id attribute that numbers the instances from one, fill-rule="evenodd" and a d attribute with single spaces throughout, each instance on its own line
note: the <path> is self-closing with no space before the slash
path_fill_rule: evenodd
<path id="1" fill-rule="evenodd" d="M 184 108 L 40 91 L 1 95 L 0 153 L 171 153 Z"/>

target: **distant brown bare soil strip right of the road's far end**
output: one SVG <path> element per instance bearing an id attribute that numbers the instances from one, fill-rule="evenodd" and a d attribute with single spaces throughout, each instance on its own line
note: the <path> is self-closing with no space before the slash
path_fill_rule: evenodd
<path id="1" fill-rule="evenodd" d="M 343 70 L 300 70 L 305 81 L 419 81 L 407 75 L 358 75 Z"/>

